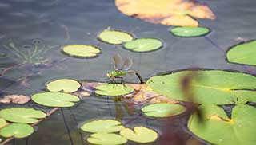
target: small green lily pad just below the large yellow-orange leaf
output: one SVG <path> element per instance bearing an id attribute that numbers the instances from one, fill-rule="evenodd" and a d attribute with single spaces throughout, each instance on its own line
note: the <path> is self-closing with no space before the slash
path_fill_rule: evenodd
<path id="1" fill-rule="evenodd" d="M 202 37 L 210 33 L 206 27 L 174 27 L 170 33 L 177 37 Z"/>

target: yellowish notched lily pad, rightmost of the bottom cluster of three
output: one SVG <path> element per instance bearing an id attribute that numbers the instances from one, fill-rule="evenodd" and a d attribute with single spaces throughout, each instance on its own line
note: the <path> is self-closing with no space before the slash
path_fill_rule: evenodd
<path id="1" fill-rule="evenodd" d="M 120 131 L 120 135 L 137 143 L 150 143 L 158 139 L 158 133 L 146 127 L 134 127 L 134 131 L 124 128 Z"/>

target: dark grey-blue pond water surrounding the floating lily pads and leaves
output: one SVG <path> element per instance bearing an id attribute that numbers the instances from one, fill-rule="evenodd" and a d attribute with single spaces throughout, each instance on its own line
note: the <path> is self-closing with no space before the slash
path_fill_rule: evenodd
<path id="1" fill-rule="evenodd" d="M 113 53 L 131 57 L 134 60 L 132 69 L 140 72 L 143 78 L 149 78 L 158 72 L 194 67 L 256 73 L 253 66 L 234 65 L 225 60 L 226 50 L 238 44 L 236 38 L 255 38 L 256 2 L 201 2 L 206 2 L 217 16 L 215 21 L 199 20 L 200 25 L 209 27 L 212 32 L 207 37 L 179 38 L 168 33 L 169 27 L 166 25 L 154 25 L 126 17 L 116 9 L 113 0 L 2 0 L 0 53 L 8 53 L 2 45 L 10 41 L 22 46 L 30 44 L 34 38 L 42 39 L 44 44 L 53 49 L 45 55 L 49 59 L 47 66 L 22 65 L 6 72 L 5 77 L 0 78 L 1 94 L 31 95 L 41 92 L 47 81 L 56 78 L 103 81 L 106 72 L 112 69 Z M 157 37 L 164 41 L 164 47 L 151 53 L 132 53 L 122 49 L 122 46 L 104 44 L 97 40 L 97 35 L 108 26 L 133 33 L 135 37 Z M 87 60 L 66 57 L 60 50 L 62 45 L 67 44 L 97 45 L 102 49 L 102 54 Z M 14 61 L 12 58 L 15 56 L 8 54 L 10 58 L 0 61 L 2 70 L 22 62 Z M 25 88 L 18 82 L 15 83 L 15 80 L 26 76 L 26 73 L 33 73 L 33 76 L 28 77 L 27 83 L 30 85 Z M 136 82 L 133 77 L 128 78 L 128 81 Z M 7 107 L 0 105 L 1 108 Z M 38 108 L 36 104 L 30 105 Z M 46 121 L 39 123 L 38 130 L 28 139 L 15 139 L 10 144 L 88 144 L 85 139 L 89 134 L 79 131 L 79 124 L 102 118 L 119 118 L 127 123 L 127 127 L 143 125 L 154 128 L 159 132 L 160 139 L 149 144 L 207 144 L 187 131 L 186 114 L 170 120 L 154 120 L 141 116 L 139 112 L 130 115 L 124 106 L 122 102 L 114 103 L 111 99 L 90 96 L 76 107 L 59 110 Z M 122 116 L 116 116 L 117 112 L 122 112 Z M 163 139 L 164 135 L 169 135 L 166 141 Z"/>

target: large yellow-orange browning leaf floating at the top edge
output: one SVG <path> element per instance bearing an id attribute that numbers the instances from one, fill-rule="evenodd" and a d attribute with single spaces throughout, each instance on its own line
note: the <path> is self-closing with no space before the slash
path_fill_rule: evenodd
<path id="1" fill-rule="evenodd" d="M 115 4 L 123 14 L 162 25 L 198 26 L 194 18 L 215 19 L 208 6 L 193 1 L 115 0 Z"/>

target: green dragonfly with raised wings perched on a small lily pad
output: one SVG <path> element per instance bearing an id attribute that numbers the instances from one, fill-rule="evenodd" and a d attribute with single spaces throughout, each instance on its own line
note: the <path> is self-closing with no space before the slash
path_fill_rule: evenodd
<path id="1" fill-rule="evenodd" d="M 133 61 L 130 58 L 126 57 L 122 60 L 122 57 L 120 57 L 118 53 L 115 53 L 113 56 L 113 64 L 114 70 L 106 74 L 108 78 L 112 79 L 112 82 L 116 79 L 121 79 L 121 83 L 124 84 L 123 76 L 126 76 L 127 74 L 135 74 L 138 77 L 138 80 L 140 80 L 140 83 L 143 84 L 142 77 L 138 72 L 130 70 L 131 65 L 133 65 Z"/>

